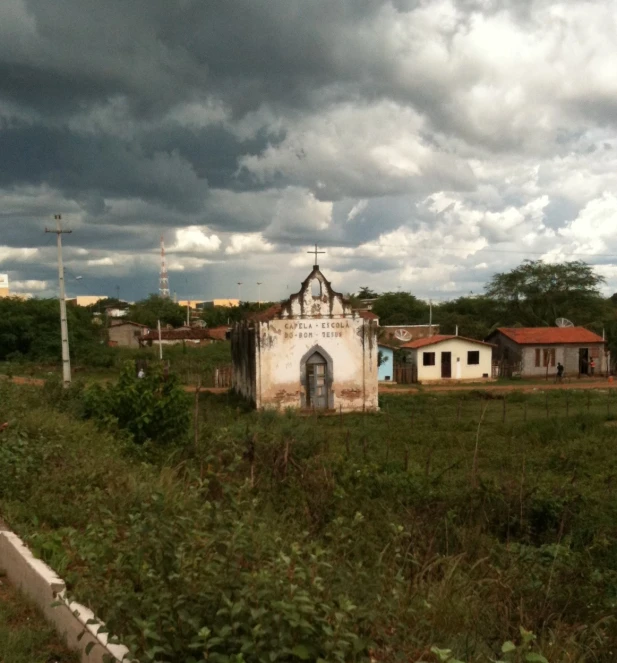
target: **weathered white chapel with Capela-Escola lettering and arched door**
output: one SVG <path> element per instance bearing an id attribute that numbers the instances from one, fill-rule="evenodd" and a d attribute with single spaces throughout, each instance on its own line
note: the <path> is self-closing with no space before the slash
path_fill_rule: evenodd
<path id="1" fill-rule="evenodd" d="M 377 329 L 315 265 L 299 292 L 236 323 L 233 388 L 257 408 L 377 410 Z"/>

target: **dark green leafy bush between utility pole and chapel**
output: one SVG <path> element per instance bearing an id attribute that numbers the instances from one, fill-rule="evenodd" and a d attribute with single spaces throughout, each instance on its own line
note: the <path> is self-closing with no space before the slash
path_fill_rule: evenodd
<path id="1" fill-rule="evenodd" d="M 101 422 L 115 422 L 137 444 L 181 441 L 189 424 L 189 398 L 173 374 L 151 365 L 137 375 L 135 362 L 126 362 L 116 383 L 94 384 L 83 393 L 83 415 Z"/>

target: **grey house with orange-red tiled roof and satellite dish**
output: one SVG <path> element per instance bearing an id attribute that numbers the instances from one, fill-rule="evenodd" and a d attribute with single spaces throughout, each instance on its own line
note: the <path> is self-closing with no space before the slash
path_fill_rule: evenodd
<path id="1" fill-rule="evenodd" d="M 500 374 L 554 376 L 562 364 L 567 376 L 607 372 L 608 353 L 601 336 L 585 327 L 500 327 L 487 338 L 495 344 L 493 359 Z"/>

